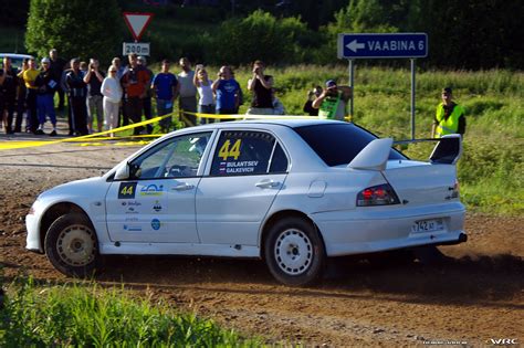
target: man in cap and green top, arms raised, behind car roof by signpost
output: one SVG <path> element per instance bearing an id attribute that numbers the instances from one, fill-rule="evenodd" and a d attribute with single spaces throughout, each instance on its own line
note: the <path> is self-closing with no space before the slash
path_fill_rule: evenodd
<path id="1" fill-rule="evenodd" d="M 322 119 L 344 120 L 352 93 L 352 87 L 338 86 L 334 80 L 328 80 L 326 88 L 313 101 L 312 106 L 318 109 L 318 117 Z"/>

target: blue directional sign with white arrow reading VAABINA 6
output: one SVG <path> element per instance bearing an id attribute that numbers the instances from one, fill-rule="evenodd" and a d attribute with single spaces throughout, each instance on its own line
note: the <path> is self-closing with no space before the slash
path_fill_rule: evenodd
<path id="1" fill-rule="evenodd" d="M 400 59 L 428 56 L 426 33 L 338 34 L 339 59 Z"/>

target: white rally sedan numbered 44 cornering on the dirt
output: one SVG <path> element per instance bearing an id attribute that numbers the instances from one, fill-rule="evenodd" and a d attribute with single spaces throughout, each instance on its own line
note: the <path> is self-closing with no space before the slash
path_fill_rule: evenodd
<path id="1" fill-rule="evenodd" d="M 448 136 L 429 162 L 334 120 L 230 122 L 174 131 L 106 175 L 39 196 L 27 249 L 62 273 L 101 255 L 263 257 L 289 285 L 326 257 L 464 242 Z"/>

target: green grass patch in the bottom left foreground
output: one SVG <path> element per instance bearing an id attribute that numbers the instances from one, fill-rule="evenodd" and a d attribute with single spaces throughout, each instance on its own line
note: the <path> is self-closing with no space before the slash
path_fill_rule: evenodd
<path id="1" fill-rule="evenodd" d="M 195 314 L 149 296 L 96 284 L 8 287 L 0 310 L 1 347 L 232 347 L 260 346 Z"/>

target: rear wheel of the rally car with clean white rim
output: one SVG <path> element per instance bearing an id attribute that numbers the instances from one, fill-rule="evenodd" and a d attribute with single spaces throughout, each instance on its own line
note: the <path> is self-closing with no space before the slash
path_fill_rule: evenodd
<path id="1" fill-rule="evenodd" d="M 269 231 L 264 256 L 271 274 L 279 282 L 303 286 L 319 278 L 326 253 L 311 222 L 286 218 L 277 221 Z"/>

